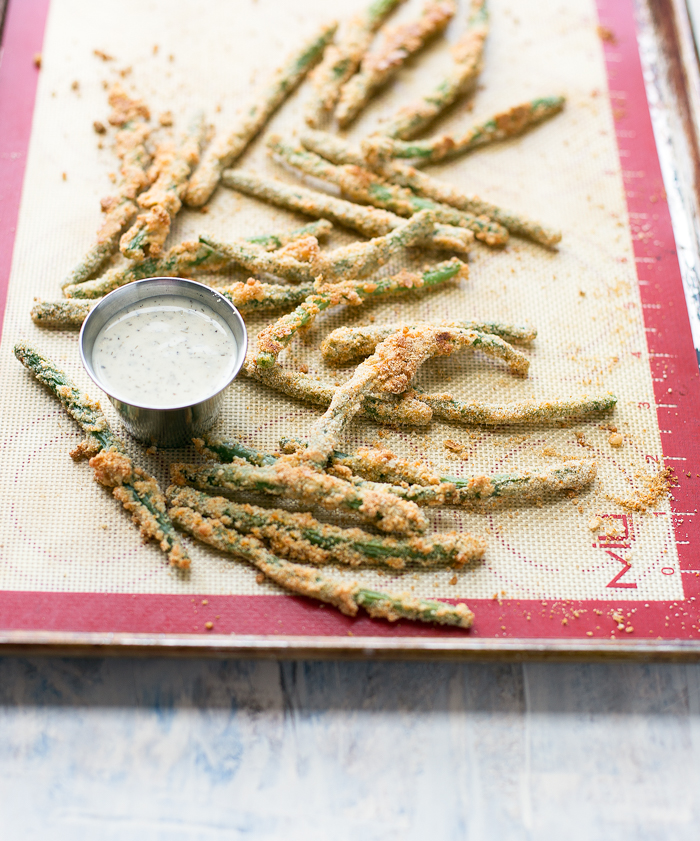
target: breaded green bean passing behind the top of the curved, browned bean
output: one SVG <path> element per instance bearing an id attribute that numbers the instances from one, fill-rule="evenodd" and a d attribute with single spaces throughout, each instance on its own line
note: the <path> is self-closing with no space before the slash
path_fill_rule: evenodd
<path id="1" fill-rule="evenodd" d="M 329 365 L 343 365 L 353 359 L 369 356 L 379 342 L 405 326 L 402 324 L 372 324 L 366 327 L 338 327 L 329 333 L 321 344 L 321 353 Z M 413 324 L 409 326 L 415 326 Z M 498 321 L 442 321 L 436 326 L 455 327 L 492 333 L 507 342 L 531 342 L 537 336 L 532 327 L 503 324 Z"/>

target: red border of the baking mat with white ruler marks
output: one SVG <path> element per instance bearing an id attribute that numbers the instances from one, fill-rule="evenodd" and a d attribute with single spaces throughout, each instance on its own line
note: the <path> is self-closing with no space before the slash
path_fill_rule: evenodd
<path id="1" fill-rule="evenodd" d="M 41 51 L 48 5 L 49 0 L 11 0 L 5 24 L 0 64 L 0 315 L 7 296 L 11 248 L 31 134 L 38 75 L 33 57 Z M 634 253 L 663 451 L 679 478 L 672 507 L 686 600 L 655 601 L 646 608 L 639 601 L 614 598 L 624 596 L 628 588 L 634 587 L 625 580 L 629 567 L 618 558 L 620 569 L 608 585 L 612 597 L 609 601 L 476 599 L 470 604 L 477 619 L 468 635 L 464 631 L 409 622 L 389 625 L 367 616 L 348 619 L 331 607 L 292 596 L 18 591 L 0 592 L 0 628 L 170 635 L 205 634 L 206 624 L 211 623 L 214 633 L 221 634 L 332 637 L 352 633 L 373 637 L 465 639 L 472 636 L 552 642 L 610 636 L 640 642 L 650 638 L 700 636 L 690 607 L 694 602 L 687 601 L 700 594 L 700 559 L 693 557 L 691 548 L 693 539 L 699 536 L 696 512 L 691 510 L 696 479 L 686 478 L 691 465 L 700 472 L 698 366 L 642 78 L 633 2 L 598 0 L 597 5 L 601 26 L 614 34 L 614 40 L 604 41 L 604 50 L 627 205 L 634 224 L 643 219 L 651 225 L 652 236 L 635 238 Z M 648 409 L 654 411 L 652 406 Z M 652 456 L 649 461 L 654 467 Z M 610 554 L 615 558 L 612 550 Z M 635 609 L 633 636 L 618 630 L 616 623 L 611 624 L 609 615 L 613 608 L 623 614 Z M 605 616 L 595 613 L 596 610 Z"/>

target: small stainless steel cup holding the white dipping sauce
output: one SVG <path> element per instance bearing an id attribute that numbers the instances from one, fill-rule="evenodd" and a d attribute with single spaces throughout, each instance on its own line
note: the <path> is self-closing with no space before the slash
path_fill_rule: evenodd
<path id="1" fill-rule="evenodd" d="M 193 406 L 175 406 L 159 409 L 153 406 L 135 406 L 124 403 L 109 393 L 92 365 L 92 350 L 98 333 L 112 316 L 121 310 L 148 298 L 161 295 L 182 295 L 206 304 L 224 321 L 236 342 L 235 358 L 231 360 L 231 373 L 223 387 Z M 136 280 L 106 295 L 89 313 L 80 331 L 80 357 L 90 378 L 104 391 L 119 413 L 124 426 L 139 441 L 158 447 L 178 447 L 189 443 L 206 432 L 217 419 L 224 399 L 224 392 L 238 375 L 248 349 L 248 334 L 241 314 L 216 290 L 193 280 L 180 277 L 151 277 Z"/>

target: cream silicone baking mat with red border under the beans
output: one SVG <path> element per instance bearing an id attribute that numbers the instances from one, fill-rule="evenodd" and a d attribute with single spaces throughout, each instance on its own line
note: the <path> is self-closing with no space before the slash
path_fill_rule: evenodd
<path id="1" fill-rule="evenodd" d="M 336 12 L 346 18 L 363 5 L 338 4 Z M 396 20 L 410 18 L 418 8 L 409 0 Z M 460 5 L 448 42 L 459 36 L 467 8 Z M 68 458 L 79 431 L 12 355 L 18 339 L 29 340 L 81 387 L 102 397 L 81 369 L 77 334 L 40 330 L 29 310 L 35 297 L 59 297 L 61 278 L 99 224 L 99 199 L 110 192 L 116 162 L 109 135 L 95 133 L 93 122 L 106 121 L 109 84 L 119 80 L 142 96 L 156 119 L 169 112 L 176 135 L 199 108 L 225 130 L 256 81 L 333 15 L 332 4 L 9 4 L 0 64 L 1 628 L 132 633 L 151 640 L 207 635 L 206 644 L 240 635 L 413 638 L 415 644 L 439 638 L 455 650 L 478 640 L 494 645 L 501 640 L 504 646 L 521 641 L 526 648 L 528 640 L 579 641 L 585 647 L 611 639 L 698 638 L 700 564 L 692 557 L 694 487 L 700 482 L 698 367 L 633 5 L 542 0 L 536 15 L 508 0 L 492 0 L 489 8 L 491 32 L 478 89 L 439 128 L 458 129 L 542 95 L 566 94 L 566 108 L 522 137 L 431 172 L 560 227 L 561 247 L 549 252 L 515 238 L 501 251 L 477 244 L 469 258 L 470 279 L 459 286 L 326 314 L 281 358 L 286 367 L 306 366 L 340 382 L 349 371 L 326 369 L 317 348 L 341 323 L 416 317 L 526 322 L 538 329 L 526 350 L 531 360 L 526 380 L 473 354 L 426 365 L 419 384 L 491 402 L 608 390 L 617 395 L 610 416 L 569 425 L 487 429 L 433 421 L 419 431 L 353 426 L 348 449 L 376 443 L 427 458 L 452 474 L 541 470 L 565 458 L 595 458 L 598 477 L 590 489 L 539 507 L 429 511 L 435 531 L 465 529 L 487 538 L 480 564 L 457 573 L 329 571 L 376 589 L 466 601 L 476 621 L 464 632 L 362 615 L 348 619 L 259 583 L 255 570 L 198 544 L 189 544 L 189 576 L 168 570 L 157 548 L 140 542 L 127 515 L 94 483 L 87 465 Z M 367 108 L 350 139 L 372 131 L 410 101 L 447 60 L 439 41 L 409 63 Z M 307 95 L 303 85 L 270 130 L 289 134 L 301 127 Z M 161 129 L 163 135 L 169 131 Z M 295 182 L 267 158 L 262 140 L 238 166 Z M 183 211 L 169 242 L 205 231 L 234 239 L 302 222 L 223 188 L 206 211 Z M 336 229 L 330 245 L 351 239 Z M 420 262 L 429 257 L 421 254 Z M 394 261 L 386 272 L 410 265 L 408 260 Z M 264 323 L 249 320 L 251 336 Z M 102 403 L 118 428 L 111 406 L 104 398 Z M 227 395 L 217 430 L 274 449 L 282 435 L 298 434 L 317 414 L 240 380 Z M 613 425 L 622 447 L 610 444 Z M 129 446 L 162 485 L 171 461 L 194 458 L 188 450 L 149 454 Z M 668 467 L 677 484 L 645 510 L 650 483 Z M 601 526 L 592 528 L 596 522 Z"/>

